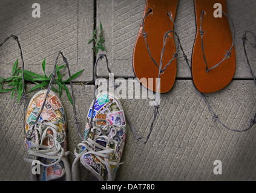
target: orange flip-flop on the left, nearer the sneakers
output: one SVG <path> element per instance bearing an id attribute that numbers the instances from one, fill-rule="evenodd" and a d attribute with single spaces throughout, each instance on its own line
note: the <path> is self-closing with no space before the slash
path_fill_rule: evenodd
<path id="1" fill-rule="evenodd" d="M 173 21 L 177 4 L 178 0 L 146 0 L 145 3 L 143 20 L 133 51 L 133 70 L 140 83 L 154 92 L 157 91 L 156 78 L 159 78 L 161 58 L 163 71 L 160 74 L 158 91 L 168 92 L 176 80 L 177 60 L 174 57 L 176 46 L 173 38 Z"/>

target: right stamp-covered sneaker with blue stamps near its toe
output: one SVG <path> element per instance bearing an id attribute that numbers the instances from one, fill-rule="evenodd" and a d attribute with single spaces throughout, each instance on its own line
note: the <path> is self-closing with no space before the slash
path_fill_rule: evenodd
<path id="1" fill-rule="evenodd" d="M 95 103 L 91 104 L 84 137 L 88 138 L 74 150 L 72 179 L 113 181 L 122 164 L 126 120 L 120 102 L 110 93 L 97 95 Z"/>

